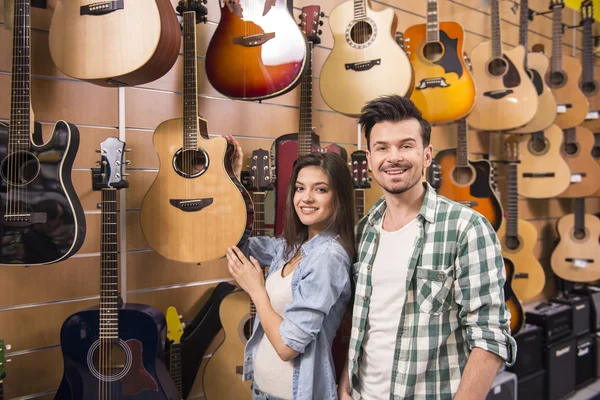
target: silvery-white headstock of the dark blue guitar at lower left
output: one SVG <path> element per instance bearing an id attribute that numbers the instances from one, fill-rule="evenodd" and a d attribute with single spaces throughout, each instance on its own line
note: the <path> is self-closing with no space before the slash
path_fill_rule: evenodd
<path id="1" fill-rule="evenodd" d="M 125 165 L 129 160 L 125 160 L 125 153 L 131 150 L 125 148 L 125 142 L 116 137 L 109 137 L 100 143 L 100 161 L 96 164 L 100 168 L 92 168 L 92 187 L 94 190 L 102 189 L 123 189 L 129 187 L 129 182 L 125 177 Z"/>

